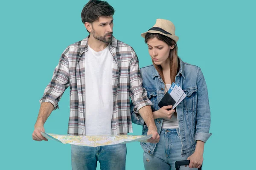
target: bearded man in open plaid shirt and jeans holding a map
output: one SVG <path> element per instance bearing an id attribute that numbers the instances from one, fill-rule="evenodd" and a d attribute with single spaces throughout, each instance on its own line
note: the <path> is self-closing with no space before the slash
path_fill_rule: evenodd
<path id="1" fill-rule="evenodd" d="M 118 135 L 132 132 L 129 96 L 134 112 L 140 113 L 148 126 L 148 142 L 159 135 L 151 102 L 142 88 L 138 58 L 131 46 L 113 37 L 114 9 L 107 2 L 90 0 L 81 12 L 89 32 L 84 40 L 68 46 L 40 100 L 41 107 L 32 138 L 45 139 L 44 123 L 58 108 L 64 91 L 70 87 L 70 135 Z M 101 147 L 71 145 L 72 169 L 93 170 L 99 160 L 101 169 L 124 170 L 126 145 Z"/>

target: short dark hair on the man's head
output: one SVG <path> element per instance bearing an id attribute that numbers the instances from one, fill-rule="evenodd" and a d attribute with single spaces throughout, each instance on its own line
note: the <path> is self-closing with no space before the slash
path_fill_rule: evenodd
<path id="1" fill-rule="evenodd" d="M 82 22 L 93 23 L 99 17 L 110 17 L 115 13 L 115 9 L 106 1 L 90 0 L 81 12 Z"/>

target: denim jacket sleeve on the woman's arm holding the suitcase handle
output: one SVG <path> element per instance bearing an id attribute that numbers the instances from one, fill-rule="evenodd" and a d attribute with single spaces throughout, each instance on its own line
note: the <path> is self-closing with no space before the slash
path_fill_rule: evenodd
<path id="1" fill-rule="evenodd" d="M 197 87 L 198 100 L 195 141 L 200 140 L 206 143 L 209 137 L 212 135 L 212 133 L 209 133 L 211 118 L 207 85 L 200 68 L 198 69 Z"/>

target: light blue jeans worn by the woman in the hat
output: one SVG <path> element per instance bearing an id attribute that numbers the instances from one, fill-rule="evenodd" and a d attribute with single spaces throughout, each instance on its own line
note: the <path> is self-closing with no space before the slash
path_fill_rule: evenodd
<path id="1" fill-rule="evenodd" d="M 181 157 L 182 145 L 177 130 L 161 129 L 160 141 L 157 143 L 153 155 L 143 153 L 145 170 L 176 170 L 175 162 L 186 160 L 189 157 Z M 180 170 L 197 170 L 197 168 L 190 169 L 189 166 L 182 166 Z"/>

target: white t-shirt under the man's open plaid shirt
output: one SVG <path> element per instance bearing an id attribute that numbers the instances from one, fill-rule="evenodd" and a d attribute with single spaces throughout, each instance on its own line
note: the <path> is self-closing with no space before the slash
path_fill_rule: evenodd
<path id="1" fill-rule="evenodd" d="M 113 115 L 112 59 L 109 45 L 85 55 L 85 135 L 111 135 Z"/>

